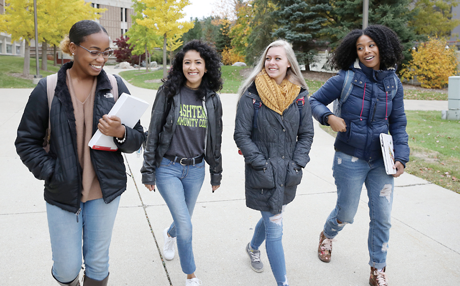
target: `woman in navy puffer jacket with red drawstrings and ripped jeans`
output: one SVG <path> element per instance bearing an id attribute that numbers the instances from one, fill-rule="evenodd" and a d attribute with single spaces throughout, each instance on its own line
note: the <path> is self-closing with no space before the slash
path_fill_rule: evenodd
<path id="1" fill-rule="evenodd" d="M 395 74 L 402 59 L 400 40 L 389 28 L 373 25 L 353 30 L 333 54 L 333 65 L 341 70 L 310 98 L 315 119 L 338 132 L 332 165 L 337 202 L 320 233 L 318 257 L 331 261 L 334 237 L 353 223 L 365 184 L 371 218 L 369 283 L 373 286 L 388 284 L 385 270 L 394 178 L 403 174 L 409 161 L 404 92 Z M 333 113 L 327 105 L 335 100 L 339 104 Z M 395 150 L 393 175 L 385 171 L 379 140 L 380 133 L 388 131 Z"/>

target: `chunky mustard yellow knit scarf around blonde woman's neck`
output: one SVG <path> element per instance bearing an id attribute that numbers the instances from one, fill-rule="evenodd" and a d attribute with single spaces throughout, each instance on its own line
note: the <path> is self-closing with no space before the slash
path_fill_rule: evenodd
<path id="1" fill-rule="evenodd" d="M 283 114 L 283 111 L 294 101 L 301 89 L 300 86 L 286 79 L 278 85 L 274 79 L 268 76 L 265 68 L 257 75 L 254 82 L 262 103 L 278 114 Z"/>

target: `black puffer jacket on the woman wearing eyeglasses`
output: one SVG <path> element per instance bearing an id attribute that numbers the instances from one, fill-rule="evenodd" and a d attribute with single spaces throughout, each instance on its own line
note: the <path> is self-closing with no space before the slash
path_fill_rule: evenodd
<path id="1" fill-rule="evenodd" d="M 48 109 L 47 80 L 40 80 L 32 91 L 17 129 L 16 151 L 22 162 L 39 180 L 44 180 L 44 199 L 52 205 L 77 213 L 80 209 L 82 169 L 77 154 L 77 131 L 74 107 L 68 91 L 66 70 L 73 62 L 64 64 L 58 71 L 56 92 Z M 111 85 L 105 71 L 97 79 L 94 102 L 93 134 L 99 118 L 115 104 L 110 93 Z M 121 78 L 117 77 L 119 94 L 129 93 Z M 51 118 L 50 152 L 43 149 L 43 138 Z M 134 129 L 126 127 L 126 141 L 116 152 L 90 150 L 91 161 L 102 189 L 104 202 L 109 203 L 126 189 L 126 170 L 122 152 L 132 153 L 141 147 L 145 134 L 140 122 Z"/>

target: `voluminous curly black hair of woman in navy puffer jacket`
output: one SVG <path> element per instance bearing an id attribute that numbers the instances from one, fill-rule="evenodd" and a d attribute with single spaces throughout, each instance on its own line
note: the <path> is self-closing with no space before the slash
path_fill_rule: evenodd
<path id="1" fill-rule="evenodd" d="M 373 39 L 379 48 L 380 62 L 385 67 L 394 67 L 399 64 L 404 56 L 403 46 L 398 35 L 386 26 L 371 25 L 364 30 L 353 30 L 343 38 L 332 56 L 332 66 L 338 69 L 350 69 L 358 54 L 356 52 L 356 41 L 362 35 Z M 382 67 L 380 67 L 382 69 Z"/>

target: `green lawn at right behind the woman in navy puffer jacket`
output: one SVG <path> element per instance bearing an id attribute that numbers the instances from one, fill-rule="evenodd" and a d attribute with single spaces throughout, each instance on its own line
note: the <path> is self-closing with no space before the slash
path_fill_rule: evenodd
<path id="1" fill-rule="evenodd" d="M 460 193 L 460 121 L 440 111 L 406 110 L 410 161 L 406 172 Z M 330 127 L 322 126 L 335 136 Z"/>

